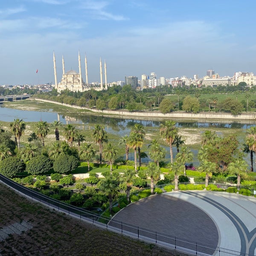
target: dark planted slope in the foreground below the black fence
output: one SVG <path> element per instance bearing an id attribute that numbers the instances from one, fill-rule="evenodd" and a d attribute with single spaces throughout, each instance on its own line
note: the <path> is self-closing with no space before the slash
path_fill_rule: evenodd
<path id="1" fill-rule="evenodd" d="M 0 183 L 0 228 L 28 221 L 33 227 L 0 242 L 1 255 L 175 256 L 174 251 L 98 228 L 34 203 Z"/>

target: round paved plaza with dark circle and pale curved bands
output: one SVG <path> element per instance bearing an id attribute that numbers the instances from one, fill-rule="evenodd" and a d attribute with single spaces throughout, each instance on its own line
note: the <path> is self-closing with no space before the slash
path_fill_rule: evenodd
<path id="1" fill-rule="evenodd" d="M 120 221 L 256 254 L 256 198 L 210 191 L 167 192 L 122 209 Z"/>

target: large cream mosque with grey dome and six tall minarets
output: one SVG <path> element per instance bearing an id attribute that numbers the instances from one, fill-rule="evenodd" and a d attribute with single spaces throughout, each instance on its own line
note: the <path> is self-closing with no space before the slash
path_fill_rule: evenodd
<path id="1" fill-rule="evenodd" d="M 77 73 L 75 70 L 69 70 L 67 73 L 65 73 L 65 65 L 64 65 L 64 57 L 62 55 L 62 78 L 61 81 L 57 82 L 57 71 L 56 71 L 56 59 L 55 59 L 55 53 L 53 52 L 53 67 L 54 67 L 54 78 L 55 78 L 55 89 L 58 90 L 58 93 L 60 93 L 62 90 L 70 90 L 73 92 L 84 92 L 86 90 L 90 90 L 91 87 L 88 83 L 88 73 L 87 73 L 87 58 L 85 55 L 85 76 L 86 76 L 86 83 L 82 79 L 82 73 L 81 73 L 81 58 L 80 58 L 80 52 L 78 52 L 78 66 L 79 66 L 79 73 Z M 99 67 L 100 67 L 100 87 L 94 88 L 98 90 L 103 90 L 103 81 L 102 81 L 102 61 L 100 58 L 99 61 Z M 108 83 L 107 83 L 107 66 L 106 61 L 104 64 L 105 68 L 105 89 L 108 89 Z"/>

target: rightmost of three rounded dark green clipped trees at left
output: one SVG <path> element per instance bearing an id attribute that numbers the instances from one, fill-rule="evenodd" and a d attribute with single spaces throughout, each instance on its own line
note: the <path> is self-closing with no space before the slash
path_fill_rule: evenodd
<path id="1" fill-rule="evenodd" d="M 61 155 L 53 162 L 53 170 L 58 173 L 70 173 L 78 166 L 78 159 L 74 156 Z"/>

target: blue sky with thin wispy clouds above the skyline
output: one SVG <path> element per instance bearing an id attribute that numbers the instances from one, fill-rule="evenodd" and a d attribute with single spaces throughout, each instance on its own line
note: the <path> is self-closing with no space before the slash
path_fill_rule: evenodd
<path id="1" fill-rule="evenodd" d="M 0 85 L 256 73 L 255 0 L 11 0 L 0 5 Z M 38 73 L 36 73 L 38 70 Z"/>

